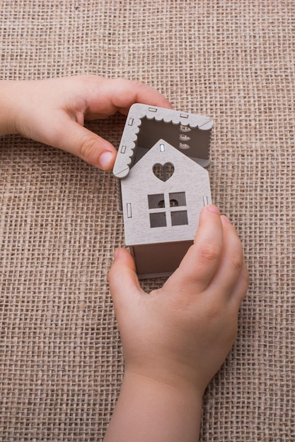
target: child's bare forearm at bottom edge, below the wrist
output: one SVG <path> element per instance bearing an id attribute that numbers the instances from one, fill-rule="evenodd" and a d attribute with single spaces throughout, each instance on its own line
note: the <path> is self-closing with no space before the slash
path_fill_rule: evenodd
<path id="1" fill-rule="evenodd" d="M 201 407 L 193 386 L 127 373 L 104 442 L 196 442 Z"/>

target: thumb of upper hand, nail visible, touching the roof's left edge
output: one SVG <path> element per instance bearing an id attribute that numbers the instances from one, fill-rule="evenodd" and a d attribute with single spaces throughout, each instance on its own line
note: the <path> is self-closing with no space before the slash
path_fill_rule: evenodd
<path id="1" fill-rule="evenodd" d="M 43 133 L 43 143 L 66 150 L 100 169 L 112 169 L 117 153 L 108 141 L 81 126 L 65 112 L 50 127 L 55 130 Z"/>

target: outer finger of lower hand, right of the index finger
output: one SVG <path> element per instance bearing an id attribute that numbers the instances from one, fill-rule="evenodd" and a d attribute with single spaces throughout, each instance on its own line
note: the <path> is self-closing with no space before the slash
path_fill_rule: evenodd
<path id="1" fill-rule="evenodd" d="M 221 223 L 224 230 L 224 247 L 219 267 L 212 279 L 211 288 L 213 292 L 218 290 L 221 297 L 228 299 L 233 294 L 237 281 L 245 277 L 245 261 L 241 240 L 236 229 L 224 215 L 221 216 Z M 243 288 L 244 285 L 241 287 Z M 243 292 L 243 289 L 242 289 Z"/>

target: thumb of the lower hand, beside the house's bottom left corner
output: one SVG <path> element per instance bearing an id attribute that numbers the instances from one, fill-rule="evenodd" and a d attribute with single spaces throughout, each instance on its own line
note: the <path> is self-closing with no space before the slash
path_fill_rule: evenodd
<path id="1" fill-rule="evenodd" d="M 134 259 L 126 249 L 115 251 L 115 260 L 110 268 L 108 280 L 115 309 L 124 314 L 122 308 L 127 299 L 134 297 L 134 293 L 142 292 Z"/>

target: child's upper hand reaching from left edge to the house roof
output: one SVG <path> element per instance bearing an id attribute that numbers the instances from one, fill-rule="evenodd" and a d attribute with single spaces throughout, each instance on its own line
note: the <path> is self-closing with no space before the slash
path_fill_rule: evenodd
<path id="1" fill-rule="evenodd" d="M 127 114 L 135 102 L 171 107 L 144 83 L 97 76 L 1 81 L 0 96 L 0 135 L 20 133 L 101 169 L 112 168 L 115 148 L 84 128 L 84 119 L 105 119 L 117 111 Z"/>

